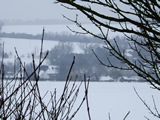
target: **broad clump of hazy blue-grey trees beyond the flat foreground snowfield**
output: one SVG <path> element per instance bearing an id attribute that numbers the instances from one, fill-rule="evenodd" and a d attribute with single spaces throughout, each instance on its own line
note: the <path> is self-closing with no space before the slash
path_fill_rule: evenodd
<path id="1" fill-rule="evenodd" d="M 122 42 L 123 39 L 119 38 L 118 40 L 117 43 L 119 43 L 121 48 L 126 49 L 126 51 L 124 51 L 126 57 L 130 60 L 134 60 L 138 57 L 134 52 L 128 49 L 128 45 L 126 45 L 125 42 Z M 81 54 L 72 53 L 73 45 L 68 43 L 61 43 L 50 51 L 48 61 L 52 65 L 59 66 L 59 73 L 56 76 L 57 80 L 63 80 L 63 78 L 66 77 L 71 61 L 75 56 L 76 64 L 72 74 L 78 75 L 78 80 L 82 80 L 84 74 L 87 74 L 92 81 L 99 81 L 102 76 L 109 76 L 111 78 L 110 81 L 135 81 L 134 72 L 108 68 L 98 61 L 96 55 L 106 65 L 109 62 L 107 59 L 109 59 L 115 65 L 125 66 L 125 64 L 112 57 L 102 44 L 81 43 L 79 46 L 83 50 Z"/>

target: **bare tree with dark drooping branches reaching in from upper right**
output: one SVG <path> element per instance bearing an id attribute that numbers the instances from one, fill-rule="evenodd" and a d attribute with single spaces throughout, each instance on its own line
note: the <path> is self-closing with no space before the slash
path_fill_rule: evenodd
<path id="1" fill-rule="evenodd" d="M 105 49 L 125 66 L 115 65 L 110 58 L 107 67 L 134 71 L 151 86 L 160 90 L 160 1 L 159 0 L 58 0 L 70 10 L 78 10 L 99 29 L 100 34 L 85 28 L 78 19 L 67 18 L 80 27 L 85 34 L 104 40 Z M 73 30 L 72 30 L 73 31 Z M 78 33 L 78 31 L 73 31 Z M 138 57 L 128 59 L 125 49 L 120 49 L 118 41 L 108 39 L 111 33 L 123 34 L 129 49 Z M 152 113 L 154 114 L 154 113 Z M 154 114 L 159 116 L 157 112 Z"/>

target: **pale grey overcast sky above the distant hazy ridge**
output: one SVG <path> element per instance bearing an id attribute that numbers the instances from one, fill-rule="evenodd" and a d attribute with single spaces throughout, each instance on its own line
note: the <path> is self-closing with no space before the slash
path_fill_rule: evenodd
<path id="1" fill-rule="evenodd" d="M 73 16 L 66 8 L 53 2 L 54 0 L 0 0 L 0 20 L 62 19 L 62 14 Z"/>

